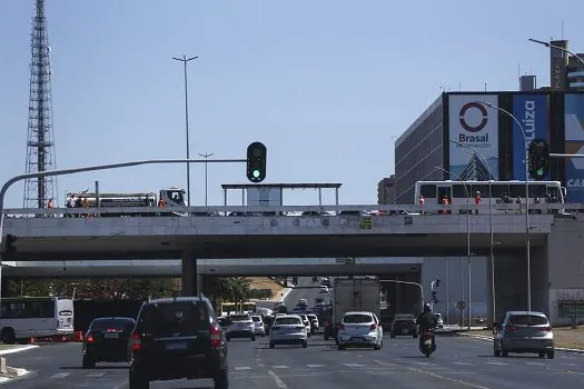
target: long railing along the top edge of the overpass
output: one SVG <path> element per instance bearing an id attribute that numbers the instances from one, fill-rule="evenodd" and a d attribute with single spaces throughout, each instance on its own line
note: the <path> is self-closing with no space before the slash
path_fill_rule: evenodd
<path id="1" fill-rule="evenodd" d="M 218 207 L 108 207 L 108 208 L 52 208 L 52 209 L 4 209 L 8 218 L 78 218 L 78 217 L 157 217 L 177 216 L 176 213 L 188 215 L 191 217 L 424 217 L 426 215 L 466 215 L 471 210 L 471 217 L 488 216 L 488 205 L 354 205 L 354 206 L 281 206 L 281 207 L 249 207 L 249 206 L 218 206 Z M 570 212 L 581 212 L 584 203 L 531 203 L 529 213 L 554 213 L 567 215 Z M 499 215 L 525 215 L 525 205 L 493 205 L 493 216 Z"/>

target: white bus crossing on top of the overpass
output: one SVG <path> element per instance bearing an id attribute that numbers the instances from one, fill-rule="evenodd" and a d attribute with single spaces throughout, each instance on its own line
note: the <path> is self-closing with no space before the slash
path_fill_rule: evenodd
<path id="1" fill-rule="evenodd" d="M 511 203 L 516 203 L 517 199 L 525 203 L 525 181 L 491 181 L 492 199 L 488 198 L 488 186 L 489 181 L 417 181 L 414 203 L 419 205 L 419 196 L 423 196 L 427 206 L 442 205 L 442 199 L 446 196 L 451 205 L 466 206 L 468 192 L 471 205 L 474 205 L 477 191 L 481 192 L 481 205 L 495 205 L 494 213 L 505 212 L 504 209 L 496 207 L 505 202 L 505 197 Z M 534 203 L 535 198 L 540 199 L 541 203 L 546 201 L 564 203 L 566 189 L 560 181 L 529 181 L 529 203 Z"/>

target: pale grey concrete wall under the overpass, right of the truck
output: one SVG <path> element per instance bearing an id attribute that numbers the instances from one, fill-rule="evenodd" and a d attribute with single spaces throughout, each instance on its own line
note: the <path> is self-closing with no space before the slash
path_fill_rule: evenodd
<path id="1" fill-rule="evenodd" d="M 461 269 L 461 259 L 463 267 Z M 472 316 L 486 317 L 487 315 L 487 258 L 471 258 L 471 310 Z M 425 258 L 422 267 L 422 281 L 426 301 L 432 298 L 430 282 L 441 279 L 441 286 L 436 289 L 439 302 L 434 306 L 434 311 L 443 315 L 445 322 L 457 323 L 461 320 L 461 311 L 456 302 L 468 301 L 468 263 L 466 257 Z M 464 298 L 463 298 L 464 293 Z M 464 320 L 467 318 L 467 309 L 464 311 Z"/>

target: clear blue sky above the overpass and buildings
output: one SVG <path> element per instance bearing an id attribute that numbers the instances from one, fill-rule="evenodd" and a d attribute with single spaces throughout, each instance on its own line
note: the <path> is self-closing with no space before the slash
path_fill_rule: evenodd
<path id="1" fill-rule="evenodd" d="M 24 171 L 33 0 L 0 3 L 0 180 Z M 394 171 L 395 136 L 441 92 L 516 90 L 517 64 L 548 84 L 548 51 L 527 42 L 564 37 L 584 51 L 584 2 L 508 1 L 95 1 L 47 0 L 57 164 L 68 168 L 185 156 L 189 66 L 191 153 L 244 158 L 268 147 L 265 182 L 343 182 L 343 203 L 375 203 Z M 192 171 L 204 203 L 204 168 Z M 220 183 L 245 167 L 209 168 Z M 186 187 L 182 166 L 59 179 L 66 190 Z M 230 197 L 237 203 L 239 193 Z M 326 198 L 333 201 L 333 196 Z M 286 193 L 316 203 L 314 191 Z M 21 207 L 22 186 L 7 206 Z"/>

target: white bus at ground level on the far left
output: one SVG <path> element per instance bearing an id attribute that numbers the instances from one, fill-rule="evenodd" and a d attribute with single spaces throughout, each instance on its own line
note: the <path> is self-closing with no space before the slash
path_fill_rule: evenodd
<path id="1" fill-rule="evenodd" d="M 17 340 L 73 335 L 73 300 L 59 297 L 2 298 L 0 340 Z"/>

